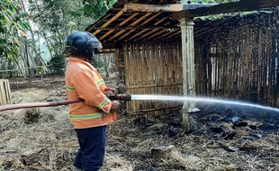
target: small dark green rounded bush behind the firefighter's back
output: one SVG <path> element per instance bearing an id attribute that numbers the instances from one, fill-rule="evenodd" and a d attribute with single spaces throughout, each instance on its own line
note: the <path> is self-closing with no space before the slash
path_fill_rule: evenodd
<path id="1" fill-rule="evenodd" d="M 65 58 L 63 55 L 56 55 L 51 58 L 48 62 L 48 65 L 50 65 L 50 75 L 63 76 L 65 71 L 65 63 Z"/>

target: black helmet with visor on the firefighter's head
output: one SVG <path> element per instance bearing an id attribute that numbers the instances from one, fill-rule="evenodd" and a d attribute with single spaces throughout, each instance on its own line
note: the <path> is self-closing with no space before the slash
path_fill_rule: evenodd
<path id="1" fill-rule="evenodd" d="M 76 31 L 67 36 L 66 53 L 70 55 L 83 56 L 91 60 L 102 48 L 102 43 L 90 32 Z"/>

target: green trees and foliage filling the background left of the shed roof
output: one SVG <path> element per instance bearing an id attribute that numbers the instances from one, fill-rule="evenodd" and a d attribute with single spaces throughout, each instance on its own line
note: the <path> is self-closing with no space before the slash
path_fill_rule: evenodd
<path id="1" fill-rule="evenodd" d="M 73 31 L 84 31 L 115 2 L 116 0 L 0 0 L 0 67 L 33 67 L 38 65 L 38 61 L 46 67 L 40 57 L 43 43 L 49 50 L 50 70 L 60 74 L 64 66 L 58 62 L 58 57 L 63 54 L 67 35 Z M 64 61 L 64 58 L 59 61 Z M 28 75 L 29 72 L 26 73 Z"/>

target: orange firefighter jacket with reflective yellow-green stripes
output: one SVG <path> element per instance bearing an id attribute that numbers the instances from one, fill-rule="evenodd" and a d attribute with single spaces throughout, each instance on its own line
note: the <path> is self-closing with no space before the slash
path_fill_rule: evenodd
<path id="1" fill-rule="evenodd" d="M 110 112 L 112 102 L 104 94 L 106 86 L 103 78 L 90 63 L 68 58 L 65 82 L 68 99 L 85 100 L 68 106 L 70 121 L 75 129 L 102 126 L 116 120 L 116 113 Z"/>

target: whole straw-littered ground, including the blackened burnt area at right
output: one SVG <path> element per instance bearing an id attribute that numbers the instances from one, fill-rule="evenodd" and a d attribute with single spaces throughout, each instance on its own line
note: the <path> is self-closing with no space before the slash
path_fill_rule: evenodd
<path id="1" fill-rule="evenodd" d="M 63 76 L 9 81 L 13 103 L 66 99 Z M 113 77 L 105 82 L 116 86 Z M 119 111 L 107 127 L 102 170 L 279 170 L 279 113 L 214 103 L 198 108 L 198 129 L 189 134 L 180 113 L 139 119 Z M 172 148 L 156 158 L 162 147 Z M 71 170 L 77 148 L 66 105 L 0 112 L 0 170 Z"/>

